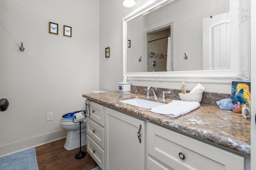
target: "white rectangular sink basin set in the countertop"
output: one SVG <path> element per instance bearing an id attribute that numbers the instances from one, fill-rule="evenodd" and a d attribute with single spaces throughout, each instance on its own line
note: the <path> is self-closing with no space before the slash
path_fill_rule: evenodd
<path id="1" fill-rule="evenodd" d="M 131 105 L 138 106 L 138 107 L 143 107 L 145 109 L 150 109 L 152 107 L 164 105 L 163 103 L 153 102 L 150 100 L 144 100 L 144 99 L 139 99 L 139 98 L 120 100 L 120 102 L 123 102 L 126 104 L 131 104 Z"/>

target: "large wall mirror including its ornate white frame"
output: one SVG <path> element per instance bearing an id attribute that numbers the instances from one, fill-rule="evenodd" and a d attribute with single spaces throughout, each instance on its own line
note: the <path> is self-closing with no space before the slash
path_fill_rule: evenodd
<path id="1" fill-rule="evenodd" d="M 156 0 L 123 18 L 128 80 L 250 80 L 249 0 Z"/>

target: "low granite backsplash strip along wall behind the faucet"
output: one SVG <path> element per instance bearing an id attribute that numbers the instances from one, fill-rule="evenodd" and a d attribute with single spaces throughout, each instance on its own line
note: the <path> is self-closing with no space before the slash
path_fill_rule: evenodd
<path id="1" fill-rule="evenodd" d="M 146 95 L 146 89 L 147 87 L 145 86 L 131 86 L 131 92 L 136 93 L 136 94 L 145 94 Z M 162 92 L 171 92 L 170 94 L 166 93 L 165 97 L 169 99 L 174 99 L 174 100 L 180 100 L 179 93 L 181 90 L 176 90 L 176 89 L 170 89 L 170 88 L 157 88 L 158 90 L 156 91 L 156 94 L 158 98 L 161 98 Z M 189 92 L 187 90 L 187 92 Z M 152 90 L 150 90 L 150 96 L 153 96 Z M 211 93 L 211 92 L 204 92 L 202 96 L 202 102 L 201 104 L 210 104 L 210 105 L 215 105 L 216 101 L 226 99 L 226 98 L 231 98 L 231 94 L 222 94 L 222 93 Z"/>

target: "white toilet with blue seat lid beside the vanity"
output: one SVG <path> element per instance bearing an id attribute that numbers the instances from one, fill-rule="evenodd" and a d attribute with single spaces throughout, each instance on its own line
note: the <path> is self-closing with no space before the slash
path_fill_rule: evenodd
<path id="1" fill-rule="evenodd" d="M 67 131 L 66 142 L 64 144 L 66 150 L 80 147 L 80 123 L 74 123 L 73 118 L 74 113 L 81 111 L 67 113 L 60 118 L 60 126 Z M 86 117 L 83 121 L 84 123 L 81 124 L 81 146 L 86 145 Z"/>

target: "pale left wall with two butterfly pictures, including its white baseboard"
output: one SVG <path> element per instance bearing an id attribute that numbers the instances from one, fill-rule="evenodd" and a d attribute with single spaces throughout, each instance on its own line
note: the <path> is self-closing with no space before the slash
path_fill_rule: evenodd
<path id="1" fill-rule="evenodd" d="M 82 94 L 99 89 L 99 4 L 0 0 L 0 98 L 10 103 L 0 112 L 0 156 L 64 137 L 60 117 L 84 109 Z M 48 33 L 49 21 L 58 35 Z"/>

